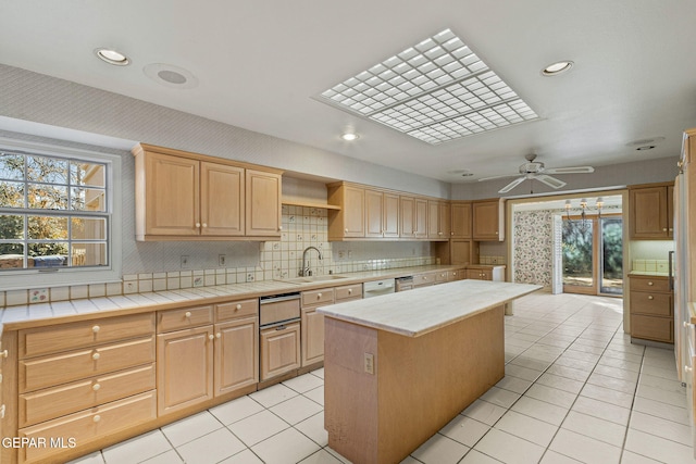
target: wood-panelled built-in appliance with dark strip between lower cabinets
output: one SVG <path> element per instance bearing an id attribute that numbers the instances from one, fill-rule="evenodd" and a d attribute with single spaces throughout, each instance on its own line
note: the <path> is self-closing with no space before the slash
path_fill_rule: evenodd
<path id="1" fill-rule="evenodd" d="M 259 299 L 260 379 L 299 368 L 300 293 L 282 293 Z"/>

